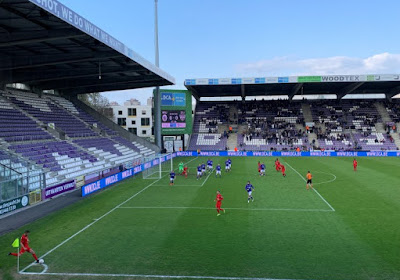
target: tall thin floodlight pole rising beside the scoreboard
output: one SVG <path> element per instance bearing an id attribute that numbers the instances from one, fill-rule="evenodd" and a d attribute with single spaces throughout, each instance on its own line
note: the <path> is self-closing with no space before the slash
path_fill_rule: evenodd
<path id="1" fill-rule="evenodd" d="M 158 0 L 154 0 L 154 47 L 155 47 L 155 62 L 156 66 L 160 66 L 159 51 L 158 51 Z M 154 138 L 156 145 L 161 149 L 161 100 L 160 87 L 156 87 L 154 92 Z"/>

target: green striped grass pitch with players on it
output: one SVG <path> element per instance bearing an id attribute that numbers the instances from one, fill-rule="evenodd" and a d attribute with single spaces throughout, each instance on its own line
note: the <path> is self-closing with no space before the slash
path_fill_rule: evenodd
<path id="1" fill-rule="evenodd" d="M 397 158 L 358 158 L 357 172 L 352 158 L 280 158 L 286 178 L 274 158 L 232 157 L 230 173 L 225 159 L 213 158 L 222 178 L 196 180 L 196 165 L 207 158 L 175 158 L 174 166 L 188 162 L 190 175 L 177 176 L 174 186 L 168 172 L 159 180 L 137 175 L 1 236 L 0 279 L 400 279 Z M 259 160 L 265 177 L 257 174 Z M 306 191 L 308 170 L 317 191 Z M 255 186 L 250 203 L 248 180 Z M 219 217 L 216 190 L 226 208 Z M 25 228 L 48 267 L 25 271 L 44 274 L 14 273 L 16 258 L 7 253 Z M 31 261 L 23 255 L 21 268 Z"/>

